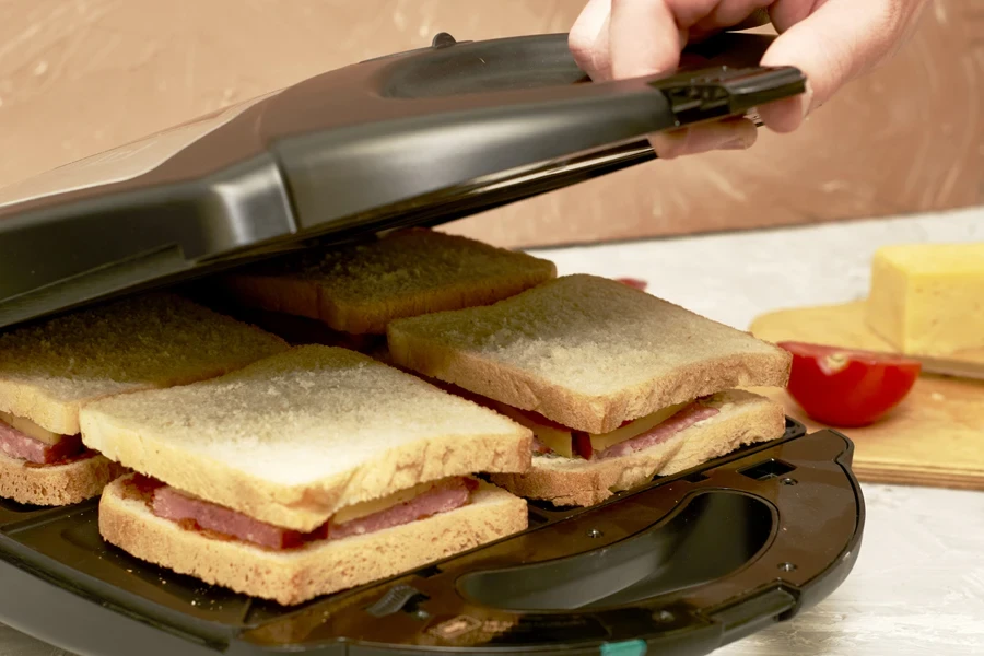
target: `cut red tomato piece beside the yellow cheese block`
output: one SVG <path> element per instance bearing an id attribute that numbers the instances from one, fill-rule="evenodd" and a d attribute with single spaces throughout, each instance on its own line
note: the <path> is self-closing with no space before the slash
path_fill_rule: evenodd
<path id="1" fill-rule="evenodd" d="M 871 424 L 909 395 L 922 365 L 891 353 L 781 342 L 793 353 L 787 390 L 809 417 L 831 426 Z"/>

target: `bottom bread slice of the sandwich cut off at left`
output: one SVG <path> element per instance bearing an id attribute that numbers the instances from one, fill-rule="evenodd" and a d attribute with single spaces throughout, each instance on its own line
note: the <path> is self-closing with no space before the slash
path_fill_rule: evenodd
<path id="1" fill-rule="evenodd" d="M 98 496 L 126 471 L 99 455 L 68 465 L 31 467 L 26 460 L 0 454 L 0 496 L 17 503 L 61 506 Z"/>

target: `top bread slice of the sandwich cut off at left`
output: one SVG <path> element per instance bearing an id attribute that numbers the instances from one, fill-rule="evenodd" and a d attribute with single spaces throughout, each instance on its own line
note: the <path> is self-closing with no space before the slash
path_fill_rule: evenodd
<path id="1" fill-rule="evenodd" d="M 0 335 L 0 411 L 74 435 L 89 401 L 219 376 L 286 348 L 175 294 L 134 296 Z"/>

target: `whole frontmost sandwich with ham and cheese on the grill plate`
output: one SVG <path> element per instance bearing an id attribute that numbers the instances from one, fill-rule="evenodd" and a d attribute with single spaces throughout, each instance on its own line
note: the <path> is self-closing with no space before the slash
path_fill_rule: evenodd
<path id="1" fill-rule="evenodd" d="M 526 471 L 528 429 L 347 349 L 96 401 L 81 424 L 133 471 L 102 495 L 105 540 L 281 605 L 527 527 L 526 502 L 475 475 Z"/>

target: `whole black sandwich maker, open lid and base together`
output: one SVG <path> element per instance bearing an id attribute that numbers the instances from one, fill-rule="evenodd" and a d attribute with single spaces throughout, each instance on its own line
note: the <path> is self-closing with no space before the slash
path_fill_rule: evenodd
<path id="1" fill-rule="evenodd" d="M 331 71 L 0 189 L 0 330 L 224 268 L 440 223 L 652 160 L 645 136 L 804 90 L 726 33 L 593 83 L 566 35 Z M 2 356 L 2 354 L 0 354 Z M 864 526 L 853 445 L 785 436 L 414 572 L 280 607 L 105 544 L 97 501 L 0 500 L 0 622 L 81 655 L 707 654 L 829 595 Z"/>

